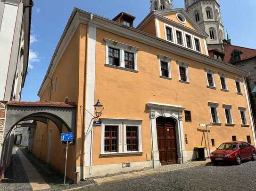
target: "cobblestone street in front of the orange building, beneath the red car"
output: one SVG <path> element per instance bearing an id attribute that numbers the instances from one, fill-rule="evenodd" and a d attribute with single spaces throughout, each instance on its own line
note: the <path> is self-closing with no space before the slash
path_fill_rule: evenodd
<path id="1" fill-rule="evenodd" d="M 256 191 L 256 161 L 239 166 L 220 164 L 105 183 L 83 191 Z"/>

